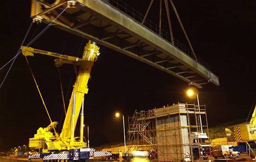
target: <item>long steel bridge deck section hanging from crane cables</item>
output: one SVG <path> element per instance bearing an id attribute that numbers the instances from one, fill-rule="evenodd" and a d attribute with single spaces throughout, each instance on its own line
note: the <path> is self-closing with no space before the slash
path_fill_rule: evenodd
<path id="1" fill-rule="evenodd" d="M 77 1 L 75 8 L 67 8 L 55 21 L 56 28 L 96 41 L 195 87 L 201 88 L 209 82 L 219 86 L 218 76 L 206 66 L 110 3 L 103 0 Z M 35 0 L 31 17 L 41 16 L 43 23 L 50 23 L 63 11 L 66 3 L 64 0 L 51 6 Z"/>

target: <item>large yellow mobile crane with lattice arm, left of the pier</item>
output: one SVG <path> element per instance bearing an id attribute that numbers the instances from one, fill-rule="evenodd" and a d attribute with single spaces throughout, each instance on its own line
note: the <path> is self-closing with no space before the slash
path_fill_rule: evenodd
<path id="1" fill-rule="evenodd" d="M 24 56 L 33 56 L 35 53 L 52 56 L 55 59 L 55 65 L 62 64 L 77 64 L 80 66 L 79 73 L 73 85 L 73 92 L 67 108 L 67 115 L 62 127 L 61 134 L 52 133 L 52 129 L 56 127 L 57 122 L 51 122 L 48 127 L 40 127 L 34 138 L 30 138 L 29 146 L 34 149 L 42 149 L 43 152 L 49 150 L 70 150 L 86 147 L 83 140 L 84 130 L 84 95 L 88 93 L 87 83 L 90 78 L 91 68 L 96 61 L 99 53 L 99 47 L 95 42 L 89 41 L 83 52 L 82 58 L 63 55 L 55 52 L 47 52 L 31 47 L 22 46 Z M 82 109 L 81 109 L 82 107 Z M 79 118 L 80 112 L 80 136 L 75 137 L 75 127 Z M 46 145 L 45 145 L 46 144 Z"/>

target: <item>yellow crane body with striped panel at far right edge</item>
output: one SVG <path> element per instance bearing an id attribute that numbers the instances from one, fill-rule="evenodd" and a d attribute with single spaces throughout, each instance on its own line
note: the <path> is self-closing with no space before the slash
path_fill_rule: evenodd
<path id="1" fill-rule="evenodd" d="M 249 124 L 241 124 L 233 127 L 232 131 L 228 128 L 226 130 L 227 139 L 229 141 L 246 142 L 256 140 L 256 105 Z"/>

